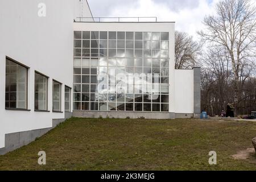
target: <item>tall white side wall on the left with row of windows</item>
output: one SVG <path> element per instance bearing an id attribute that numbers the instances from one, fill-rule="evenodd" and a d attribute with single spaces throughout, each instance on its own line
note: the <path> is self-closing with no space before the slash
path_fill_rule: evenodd
<path id="1" fill-rule="evenodd" d="M 39 3 L 46 4 L 46 17 L 38 16 Z M 80 4 L 79 0 L 0 1 L 0 148 L 5 147 L 7 133 L 52 127 L 52 119 L 64 118 L 64 86 L 73 87 L 73 20 L 81 14 L 75 12 Z M 89 7 L 84 6 L 88 13 Z M 30 67 L 28 109 L 31 111 L 5 109 L 6 56 Z M 34 111 L 35 71 L 49 76 L 49 113 Z M 63 113 L 52 113 L 52 79 L 63 83 Z"/>

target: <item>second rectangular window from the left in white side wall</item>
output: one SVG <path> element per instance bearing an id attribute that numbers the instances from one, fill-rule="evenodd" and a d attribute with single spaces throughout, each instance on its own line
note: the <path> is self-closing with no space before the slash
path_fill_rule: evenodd
<path id="1" fill-rule="evenodd" d="M 48 109 L 48 78 L 35 72 L 35 110 Z"/>

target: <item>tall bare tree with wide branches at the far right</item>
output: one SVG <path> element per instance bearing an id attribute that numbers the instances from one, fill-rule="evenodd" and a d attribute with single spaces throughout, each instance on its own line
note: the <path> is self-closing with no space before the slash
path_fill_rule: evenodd
<path id="1" fill-rule="evenodd" d="M 205 31 L 199 35 L 210 47 L 224 49 L 234 75 L 235 113 L 241 87 L 254 69 L 256 9 L 250 0 L 224 0 L 216 5 L 216 15 L 206 16 Z"/>

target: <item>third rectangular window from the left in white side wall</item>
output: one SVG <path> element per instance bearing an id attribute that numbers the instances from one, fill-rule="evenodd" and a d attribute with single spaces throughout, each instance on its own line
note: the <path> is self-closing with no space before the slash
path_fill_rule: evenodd
<path id="1" fill-rule="evenodd" d="M 52 111 L 61 111 L 61 83 L 52 81 Z"/>

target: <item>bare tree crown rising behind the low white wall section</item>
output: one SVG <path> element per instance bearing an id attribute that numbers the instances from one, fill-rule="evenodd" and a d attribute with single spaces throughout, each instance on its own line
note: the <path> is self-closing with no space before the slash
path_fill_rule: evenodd
<path id="1" fill-rule="evenodd" d="M 175 32 L 175 69 L 195 67 L 201 46 L 185 32 Z"/>

